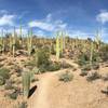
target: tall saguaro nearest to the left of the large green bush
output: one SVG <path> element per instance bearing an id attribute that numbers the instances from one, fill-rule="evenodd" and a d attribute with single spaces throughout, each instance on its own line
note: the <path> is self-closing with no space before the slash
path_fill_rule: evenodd
<path id="1" fill-rule="evenodd" d="M 28 55 L 31 54 L 31 49 L 32 49 L 32 29 L 30 31 L 28 31 L 28 38 L 27 38 Z"/>

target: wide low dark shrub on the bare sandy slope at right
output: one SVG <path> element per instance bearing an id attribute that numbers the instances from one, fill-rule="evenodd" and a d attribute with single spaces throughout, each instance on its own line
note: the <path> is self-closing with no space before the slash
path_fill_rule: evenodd
<path id="1" fill-rule="evenodd" d="M 89 76 L 86 77 L 86 80 L 91 82 L 100 78 L 102 76 L 97 71 L 95 71 L 95 72 L 89 73 Z"/>

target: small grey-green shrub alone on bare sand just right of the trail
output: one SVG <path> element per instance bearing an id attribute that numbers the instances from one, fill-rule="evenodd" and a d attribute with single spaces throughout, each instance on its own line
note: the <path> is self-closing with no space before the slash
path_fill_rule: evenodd
<path id="1" fill-rule="evenodd" d="M 73 75 L 70 71 L 66 71 L 59 76 L 59 81 L 69 82 L 73 79 Z"/>

